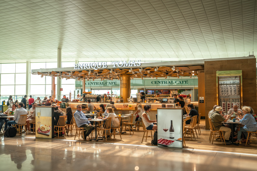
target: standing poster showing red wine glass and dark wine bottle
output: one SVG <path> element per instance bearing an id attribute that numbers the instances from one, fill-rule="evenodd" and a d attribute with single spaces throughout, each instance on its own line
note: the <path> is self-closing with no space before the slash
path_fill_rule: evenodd
<path id="1" fill-rule="evenodd" d="M 157 108 L 158 146 L 183 148 L 183 109 Z"/>

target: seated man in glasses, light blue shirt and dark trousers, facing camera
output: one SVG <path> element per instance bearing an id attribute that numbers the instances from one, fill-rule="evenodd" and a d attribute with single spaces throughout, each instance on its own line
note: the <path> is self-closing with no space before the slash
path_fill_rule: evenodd
<path id="1" fill-rule="evenodd" d="M 81 134 L 81 137 L 85 140 L 95 127 L 89 122 L 91 118 L 86 118 L 85 114 L 81 110 L 81 105 L 77 105 L 77 111 L 74 113 L 74 118 L 77 126 L 85 130 L 83 131 L 83 134 Z"/>

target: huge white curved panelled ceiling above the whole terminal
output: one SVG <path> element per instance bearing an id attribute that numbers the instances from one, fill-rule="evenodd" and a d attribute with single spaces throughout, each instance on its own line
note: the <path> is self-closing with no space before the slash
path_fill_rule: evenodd
<path id="1" fill-rule="evenodd" d="M 254 0 L 1 0 L 0 61 L 177 61 L 257 52 Z"/>

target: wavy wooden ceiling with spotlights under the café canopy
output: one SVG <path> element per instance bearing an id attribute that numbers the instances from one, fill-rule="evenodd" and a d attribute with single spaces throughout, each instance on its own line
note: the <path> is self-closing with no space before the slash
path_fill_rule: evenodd
<path id="1" fill-rule="evenodd" d="M 131 70 L 132 69 L 132 70 Z M 38 74 L 41 76 L 60 76 L 61 78 L 66 79 L 102 79 L 102 80 L 114 80 L 119 79 L 119 76 L 122 74 L 130 75 L 131 78 L 150 78 L 150 77 L 177 77 L 177 76 L 197 76 L 198 72 L 204 72 L 204 67 L 202 65 L 197 66 L 176 66 L 175 69 L 170 66 L 161 66 L 161 67 L 147 67 L 147 68 L 124 68 L 124 69 L 103 69 L 103 70 L 76 70 L 76 71 L 62 71 L 51 73 L 48 72 L 37 72 L 33 74 Z M 174 70 L 173 70 L 174 69 Z"/>

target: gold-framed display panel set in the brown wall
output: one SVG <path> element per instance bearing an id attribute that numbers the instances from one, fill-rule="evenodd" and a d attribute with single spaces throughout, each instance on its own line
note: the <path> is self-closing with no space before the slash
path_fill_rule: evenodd
<path id="1" fill-rule="evenodd" d="M 242 70 L 216 71 L 217 105 L 226 113 L 237 103 L 242 109 Z"/>

